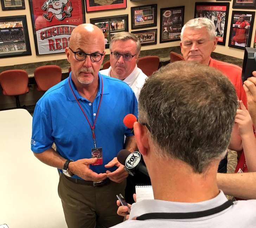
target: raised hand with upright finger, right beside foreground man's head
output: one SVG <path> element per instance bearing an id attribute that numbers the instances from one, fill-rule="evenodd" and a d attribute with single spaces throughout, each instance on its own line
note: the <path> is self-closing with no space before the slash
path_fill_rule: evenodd
<path id="1" fill-rule="evenodd" d="M 242 100 L 239 101 L 241 109 L 237 109 L 235 123 L 238 124 L 239 135 L 241 137 L 253 134 L 251 116 L 245 108 Z"/>

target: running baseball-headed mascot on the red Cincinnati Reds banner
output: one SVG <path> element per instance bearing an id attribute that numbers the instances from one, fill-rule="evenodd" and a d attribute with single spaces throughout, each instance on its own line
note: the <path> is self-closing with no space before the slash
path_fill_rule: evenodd
<path id="1" fill-rule="evenodd" d="M 47 21 L 52 21 L 53 16 L 59 21 L 71 17 L 72 6 L 69 0 L 47 0 L 41 8 L 43 11 L 47 9 L 47 13 L 43 14 Z"/>

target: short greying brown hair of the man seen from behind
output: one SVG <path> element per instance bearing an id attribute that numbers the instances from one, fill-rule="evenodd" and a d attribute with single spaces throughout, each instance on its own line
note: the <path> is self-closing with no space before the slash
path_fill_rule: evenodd
<path id="1" fill-rule="evenodd" d="M 139 122 L 148 127 L 159 158 L 180 159 L 200 174 L 225 155 L 236 109 L 234 86 L 220 71 L 177 61 L 142 87 Z"/>

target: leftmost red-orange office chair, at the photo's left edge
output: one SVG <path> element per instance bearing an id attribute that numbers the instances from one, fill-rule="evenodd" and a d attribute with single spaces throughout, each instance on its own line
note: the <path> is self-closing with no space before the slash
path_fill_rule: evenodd
<path id="1" fill-rule="evenodd" d="M 28 92 L 28 75 L 24 70 L 8 70 L 0 73 L 2 92 L 6 96 L 14 96 L 17 108 L 21 108 L 19 95 Z M 23 107 L 25 108 L 25 106 Z"/>

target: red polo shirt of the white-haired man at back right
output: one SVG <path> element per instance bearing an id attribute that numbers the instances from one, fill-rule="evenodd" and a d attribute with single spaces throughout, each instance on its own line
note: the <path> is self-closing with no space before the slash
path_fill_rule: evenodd
<path id="1" fill-rule="evenodd" d="M 245 107 L 247 107 L 247 97 L 242 84 L 242 68 L 230 63 L 218 61 L 210 58 L 209 66 L 221 71 L 229 78 L 231 83 L 235 86 L 236 94 L 239 100 L 242 100 Z"/>

